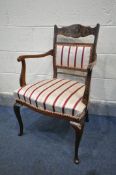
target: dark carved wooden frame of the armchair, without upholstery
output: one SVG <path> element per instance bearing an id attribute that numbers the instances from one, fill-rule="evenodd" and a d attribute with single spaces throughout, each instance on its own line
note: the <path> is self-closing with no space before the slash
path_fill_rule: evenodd
<path id="1" fill-rule="evenodd" d="M 27 106 L 31 108 L 32 110 L 43 113 L 47 116 L 57 117 L 59 119 L 65 119 L 68 120 L 71 124 L 71 126 L 75 130 L 75 154 L 74 154 L 74 162 L 76 164 L 79 163 L 79 157 L 78 157 L 78 149 L 80 140 L 83 134 L 83 128 L 85 124 L 85 120 L 88 121 L 88 102 L 89 102 L 89 92 L 90 92 L 90 83 L 91 83 L 91 75 L 92 75 L 92 69 L 93 66 L 96 63 L 97 54 L 96 54 L 96 46 L 97 46 L 97 40 L 98 40 L 98 33 L 99 33 L 99 27 L 100 25 L 97 24 L 94 28 L 89 26 L 82 26 L 79 24 L 66 26 L 62 28 L 58 28 L 56 25 L 54 26 L 54 42 L 53 42 L 53 49 L 44 53 L 44 54 L 37 54 L 37 55 L 21 55 L 18 57 L 18 61 L 22 63 L 22 69 L 20 74 L 20 86 L 24 87 L 26 85 L 26 59 L 30 58 L 43 58 L 46 56 L 51 55 L 53 57 L 53 78 L 57 78 L 58 68 L 61 69 L 72 69 L 77 70 L 81 72 L 86 72 L 87 76 L 85 78 L 85 92 L 83 95 L 83 103 L 86 105 L 86 109 L 79 115 L 79 116 L 70 116 L 66 114 L 61 114 L 57 112 L 51 112 L 47 110 L 38 109 L 24 101 L 21 101 L 19 99 L 16 99 L 16 102 L 14 104 L 14 112 L 16 114 L 16 118 L 19 123 L 19 136 L 23 135 L 23 122 L 21 119 L 20 114 L 20 107 L 21 106 Z M 80 69 L 80 68 L 72 68 L 72 67 L 58 67 L 56 65 L 56 59 L 55 59 L 55 50 L 56 50 L 56 43 L 57 43 L 57 36 L 63 35 L 66 37 L 72 37 L 72 38 L 79 38 L 79 37 L 86 37 L 88 35 L 94 36 L 94 42 L 93 42 L 93 49 L 92 49 L 92 58 L 91 62 L 89 63 L 87 69 Z M 48 58 L 48 57 L 47 57 Z"/>

